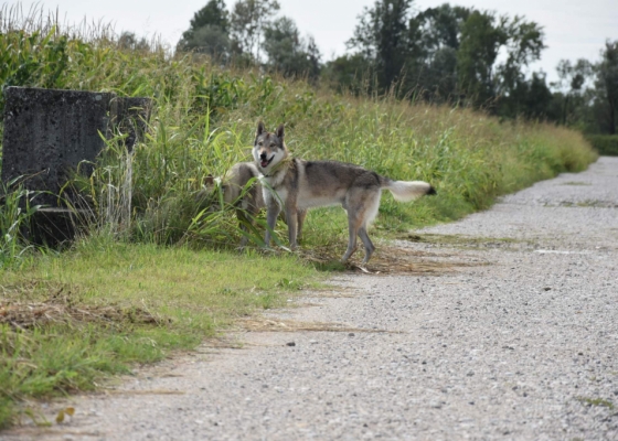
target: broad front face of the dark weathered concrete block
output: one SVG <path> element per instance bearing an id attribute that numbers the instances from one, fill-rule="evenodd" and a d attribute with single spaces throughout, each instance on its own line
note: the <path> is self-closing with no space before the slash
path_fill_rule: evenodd
<path id="1" fill-rule="evenodd" d="M 70 171 L 83 160 L 95 161 L 105 147 L 102 135 L 109 127 L 113 98 L 105 93 L 4 89 L 2 181 L 28 176 L 25 187 L 51 193 L 35 203 L 58 206 L 56 195 Z"/>

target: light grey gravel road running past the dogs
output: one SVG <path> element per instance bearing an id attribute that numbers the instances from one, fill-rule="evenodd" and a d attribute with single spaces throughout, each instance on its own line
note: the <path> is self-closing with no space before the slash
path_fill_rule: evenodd
<path id="1" fill-rule="evenodd" d="M 414 234 L 441 270 L 339 276 L 271 316 L 348 330 L 241 333 L 0 438 L 618 440 L 618 158 Z"/>

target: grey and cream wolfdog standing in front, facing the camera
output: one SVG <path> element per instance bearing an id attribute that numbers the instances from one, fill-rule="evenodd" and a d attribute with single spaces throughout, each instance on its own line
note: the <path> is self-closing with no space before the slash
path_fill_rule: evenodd
<path id="1" fill-rule="evenodd" d="M 350 238 L 341 261 L 347 261 L 356 250 L 356 236 L 360 236 L 365 246 L 364 265 L 375 250 L 367 236 L 367 227 L 377 215 L 382 189 L 390 190 L 399 202 L 436 193 L 431 185 L 423 181 L 393 181 L 343 162 L 292 159 L 284 142 L 284 125 L 270 133 L 260 121 L 253 147 L 253 157 L 266 184 L 264 201 L 269 227 L 265 237 L 267 246 L 281 207 L 288 219 L 290 248 L 295 249 L 296 214 L 299 209 L 342 205 L 348 212 Z"/>

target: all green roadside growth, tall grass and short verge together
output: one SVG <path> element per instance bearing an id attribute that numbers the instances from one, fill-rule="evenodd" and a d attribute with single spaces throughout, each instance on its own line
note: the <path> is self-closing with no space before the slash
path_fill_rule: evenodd
<path id="1" fill-rule="evenodd" d="M 7 7 L 1 13 L 2 88 L 114 92 L 151 97 L 154 108 L 132 153 L 119 147 L 126 133 L 116 133 L 94 173 L 71 183 L 93 212 L 75 243 L 30 244 L 22 226 L 35 195 L 19 182 L 0 195 L 0 428 L 31 412 L 32 398 L 92 389 L 135 363 L 195 347 L 234 319 L 285 304 L 332 268 L 280 247 L 262 250 L 260 219 L 238 251 L 233 211 L 211 209 L 201 197 L 207 174 L 251 160 L 258 119 L 270 129 L 285 122 L 295 155 L 437 189 L 437 197 L 414 204 L 384 195 L 374 228 L 385 233 L 460 218 L 596 159 L 583 136 L 565 128 L 369 89 L 334 94 L 251 65 L 172 57 L 154 43 L 130 46 L 104 26 L 64 30 Z M 285 246 L 285 226 L 277 229 Z M 315 209 L 301 247 L 339 256 L 345 237 L 341 209 Z"/>

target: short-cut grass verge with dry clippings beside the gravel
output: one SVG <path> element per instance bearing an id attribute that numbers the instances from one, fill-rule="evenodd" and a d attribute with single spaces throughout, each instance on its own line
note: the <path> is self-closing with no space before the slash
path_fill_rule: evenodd
<path id="1" fill-rule="evenodd" d="M 132 364 L 193 348 L 319 279 L 291 255 L 238 256 L 105 237 L 6 271 L 0 427 L 32 415 L 24 400 L 89 390 Z"/>

